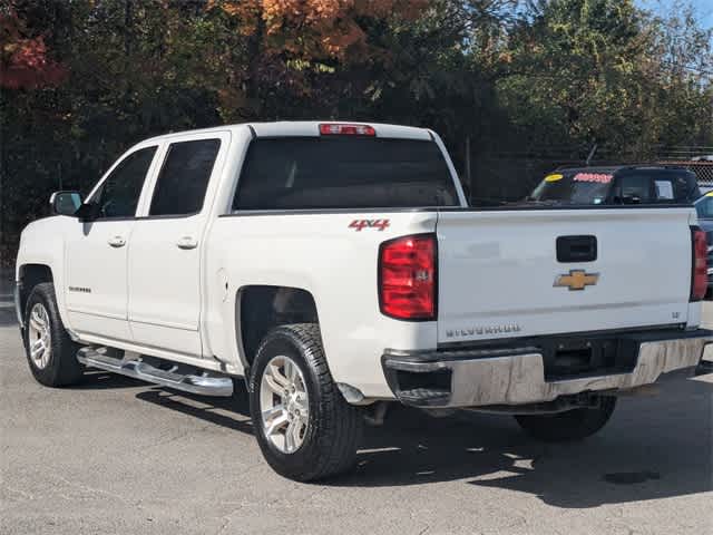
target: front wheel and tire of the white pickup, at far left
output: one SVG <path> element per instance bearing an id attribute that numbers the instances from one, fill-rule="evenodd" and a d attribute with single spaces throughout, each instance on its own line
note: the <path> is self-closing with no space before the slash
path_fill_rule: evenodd
<path id="1" fill-rule="evenodd" d="M 32 349 L 40 340 L 47 351 L 33 357 Z M 41 385 L 66 387 L 81 378 L 84 367 L 77 360 L 79 346 L 65 330 L 51 282 L 38 284 L 30 292 L 25 307 L 23 342 L 30 371 Z"/>

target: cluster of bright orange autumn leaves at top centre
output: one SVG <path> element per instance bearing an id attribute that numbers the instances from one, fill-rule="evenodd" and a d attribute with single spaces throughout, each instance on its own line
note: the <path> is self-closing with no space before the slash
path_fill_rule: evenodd
<path id="1" fill-rule="evenodd" d="M 273 52 L 299 58 L 363 60 L 369 56 L 367 19 L 413 20 L 427 0 L 212 0 L 240 21 L 240 32 L 264 32 Z"/>

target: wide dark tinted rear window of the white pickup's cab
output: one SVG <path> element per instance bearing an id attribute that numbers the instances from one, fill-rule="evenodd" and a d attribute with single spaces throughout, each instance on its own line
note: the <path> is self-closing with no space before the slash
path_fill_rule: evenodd
<path id="1" fill-rule="evenodd" d="M 456 206 L 433 142 L 285 137 L 251 143 L 233 210 Z"/>

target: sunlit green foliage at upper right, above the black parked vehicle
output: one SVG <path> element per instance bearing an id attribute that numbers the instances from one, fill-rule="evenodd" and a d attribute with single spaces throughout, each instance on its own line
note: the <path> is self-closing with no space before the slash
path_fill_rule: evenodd
<path id="1" fill-rule="evenodd" d="M 501 105 L 520 132 L 548 143 L 647 157 L 657 145 L 710 142 L 710 78 L 681 65 L 691 54 L 711 65 L 711 35 L 688 19 L 683 32 L 697 33 L 674 57 L 677 23 L 652 19 L 633 0 L 546 2 L 510 37 Z"/>

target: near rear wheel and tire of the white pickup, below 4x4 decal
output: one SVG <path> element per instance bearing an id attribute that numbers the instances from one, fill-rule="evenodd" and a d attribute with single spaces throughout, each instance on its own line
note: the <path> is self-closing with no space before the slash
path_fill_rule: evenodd
<path id="1" fill-rule="evenodd" d="M 287 364 L 287 360 L 293 364 Z M 294 364 L 296 370 L 293 371 Z M 296 396 L 294 403 L 284 391 L 275 393 L 274 388 L 283 388 L 282 382 L 290 371 L 296 385 L 291 395 Z M 282 378 L 277 380 L 280 376 Z M 306 400 L 301 392 L 306 392 Z M 267 333 L 251 367 L 250 398 L 257 442 L 265 460 L 277 474 L 296 481 L 311 481 L 335 476 L 353 466 L 363 416 L 344 400 L 334 385 L 318 324 L 282 325 Z M 271 403 L 275 403 L 279 416 L 264 417 Z M 295 407 L 293 419 L 277 426 L 284 418 L 290 418 L 279 408 L 289 408 L 291 403 Z M 300 408 L 303 410 L 297 418 Z M 270 414 L 273 412 L 271 409 Z M 279 430 L 268 432 L 267 428 L 273 424 Z M 296 435 L 290 432 L 291 429 L 296 430 Z M 284 438 L 281 438 L 283 431 Z M 287 435 L 295 437 L 292 450 Z"/>

